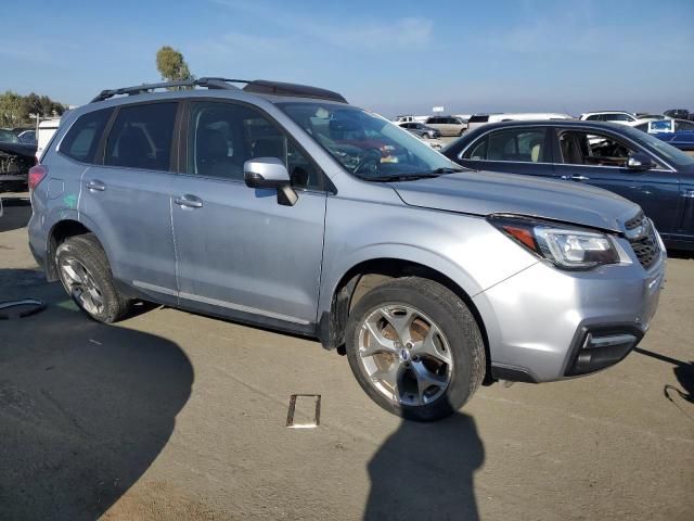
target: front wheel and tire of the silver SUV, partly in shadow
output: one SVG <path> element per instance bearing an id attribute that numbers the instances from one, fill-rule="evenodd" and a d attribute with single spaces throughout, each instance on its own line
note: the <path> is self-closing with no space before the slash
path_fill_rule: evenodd
<path id="1" fill-rule="evenodd" d="M 402 334 L 394 334 L 396 328 Z M 434 341 L 426 342 L 429 336 Z M 364 392 L 387 411 L 416 421 L 460 409 L 486 370 L 481 333 L 467 306 L 444 285 L 419 277 L 388 281 L 357 303 L 347 321 L 346 351 Z"/>

